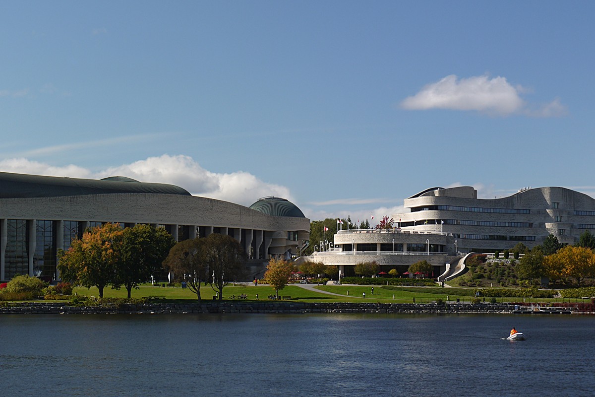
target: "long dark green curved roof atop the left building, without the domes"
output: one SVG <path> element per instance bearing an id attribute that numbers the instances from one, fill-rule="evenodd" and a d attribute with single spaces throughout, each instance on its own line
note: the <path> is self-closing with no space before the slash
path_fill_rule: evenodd
<path id="1" fill-rule="evenodd" d="M 126 177 L 104 180 L 40 176 L 0 172 L 0 198 L 101 195 L 109 193 L 156 193 L 186 195 L 176 185 L 137 182 Z"/>

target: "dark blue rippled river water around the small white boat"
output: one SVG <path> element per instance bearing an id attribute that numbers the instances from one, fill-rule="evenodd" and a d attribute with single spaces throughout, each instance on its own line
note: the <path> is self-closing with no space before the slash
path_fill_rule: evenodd
<path id="1" fill-rule="evenodd" d="M 528 340 L 509 342 L 511 327 Z M 36 396 L 592 396 L 588 315 L 3 315 Z"/>

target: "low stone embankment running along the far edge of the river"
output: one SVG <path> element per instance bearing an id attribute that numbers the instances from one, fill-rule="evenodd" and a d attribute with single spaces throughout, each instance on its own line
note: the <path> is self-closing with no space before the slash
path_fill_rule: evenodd
<path id="1" fill-rule="evenodd" d="M 60 302 L 23 302 L 0 308 L 0 314 L 209 314 L 209 313 L 442 313 L 442 314 L 570 314 L 578 308 L 547 308 L 547 311 L 512 304 L 381 304 L 381 303 L 320 303 L 320 302 L 193 302 L 103 305 L 93 307 L 68 306 Z M 584 314 L 584 312 L 581 312 Z M 588 313 L 595 314 L 595 313 Z"/>

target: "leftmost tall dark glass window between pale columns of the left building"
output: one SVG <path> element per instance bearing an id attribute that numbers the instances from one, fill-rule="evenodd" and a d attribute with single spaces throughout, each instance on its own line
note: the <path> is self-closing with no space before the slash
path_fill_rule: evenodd
<path id="1" fill-rule="evenodd" d="M 7 280 L 17 274 L 29 274 L 29 233 L 24 219 L 7 220 L 7 244 L 5 254 L 5 273 Z"/>

